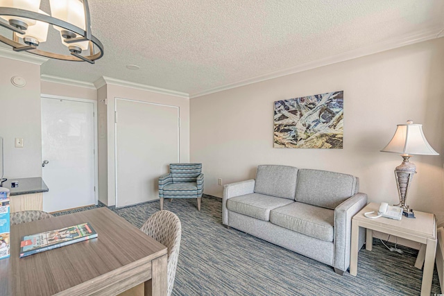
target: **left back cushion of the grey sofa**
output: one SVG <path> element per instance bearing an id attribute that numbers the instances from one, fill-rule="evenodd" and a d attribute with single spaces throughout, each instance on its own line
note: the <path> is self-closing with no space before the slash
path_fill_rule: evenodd
<path id="1" fill-rule="evenodd" d="M 294 200 L 298 168 L 293 166 L 257 166 L 255 193 Z"/>

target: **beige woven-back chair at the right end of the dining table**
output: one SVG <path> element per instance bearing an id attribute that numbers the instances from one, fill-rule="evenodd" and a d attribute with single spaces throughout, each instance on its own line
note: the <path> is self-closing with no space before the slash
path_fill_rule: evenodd
<path id="1" fill-rule="evenodd" d="M 165 247 L 168 247 L 168 296 L 173 290 L 176 268 L 180 249 L 180 237 L 182 236 L 182 225 L 176 214 L 171 211 L 157 211 L 142 227 L 142 232 L 148 234 Z"/>

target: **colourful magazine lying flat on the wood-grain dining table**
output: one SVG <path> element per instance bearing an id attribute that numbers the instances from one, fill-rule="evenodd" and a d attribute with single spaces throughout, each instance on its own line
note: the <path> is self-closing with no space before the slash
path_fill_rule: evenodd
<path id="1" fill-rule="evenodd" d="M 89 223 L 24 236 L 20 242 L 20 258 L 96 237 L 97 232 Z"/>

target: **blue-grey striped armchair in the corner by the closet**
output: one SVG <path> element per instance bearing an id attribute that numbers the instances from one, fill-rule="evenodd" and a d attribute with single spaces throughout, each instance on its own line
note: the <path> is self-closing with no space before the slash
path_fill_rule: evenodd
<path id="1" fill-rule="evenodd" d="M 169 173 L 159 178 L 160 210 L 164 209 L 164 198 L 197 198 L 203 193 L 202 164 L 170 164 Z"/>

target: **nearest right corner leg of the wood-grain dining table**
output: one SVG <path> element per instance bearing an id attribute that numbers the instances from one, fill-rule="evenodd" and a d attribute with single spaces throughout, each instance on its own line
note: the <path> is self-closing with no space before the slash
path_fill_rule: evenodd
<path id="1" fill-rule="evenodd" d="M 167 254 L 151 261 L 151 281 L 145 282 L 145 295 L 165 296 L 168 292 Z M 151 294 L 150 294 L 151 292 Z"/>

